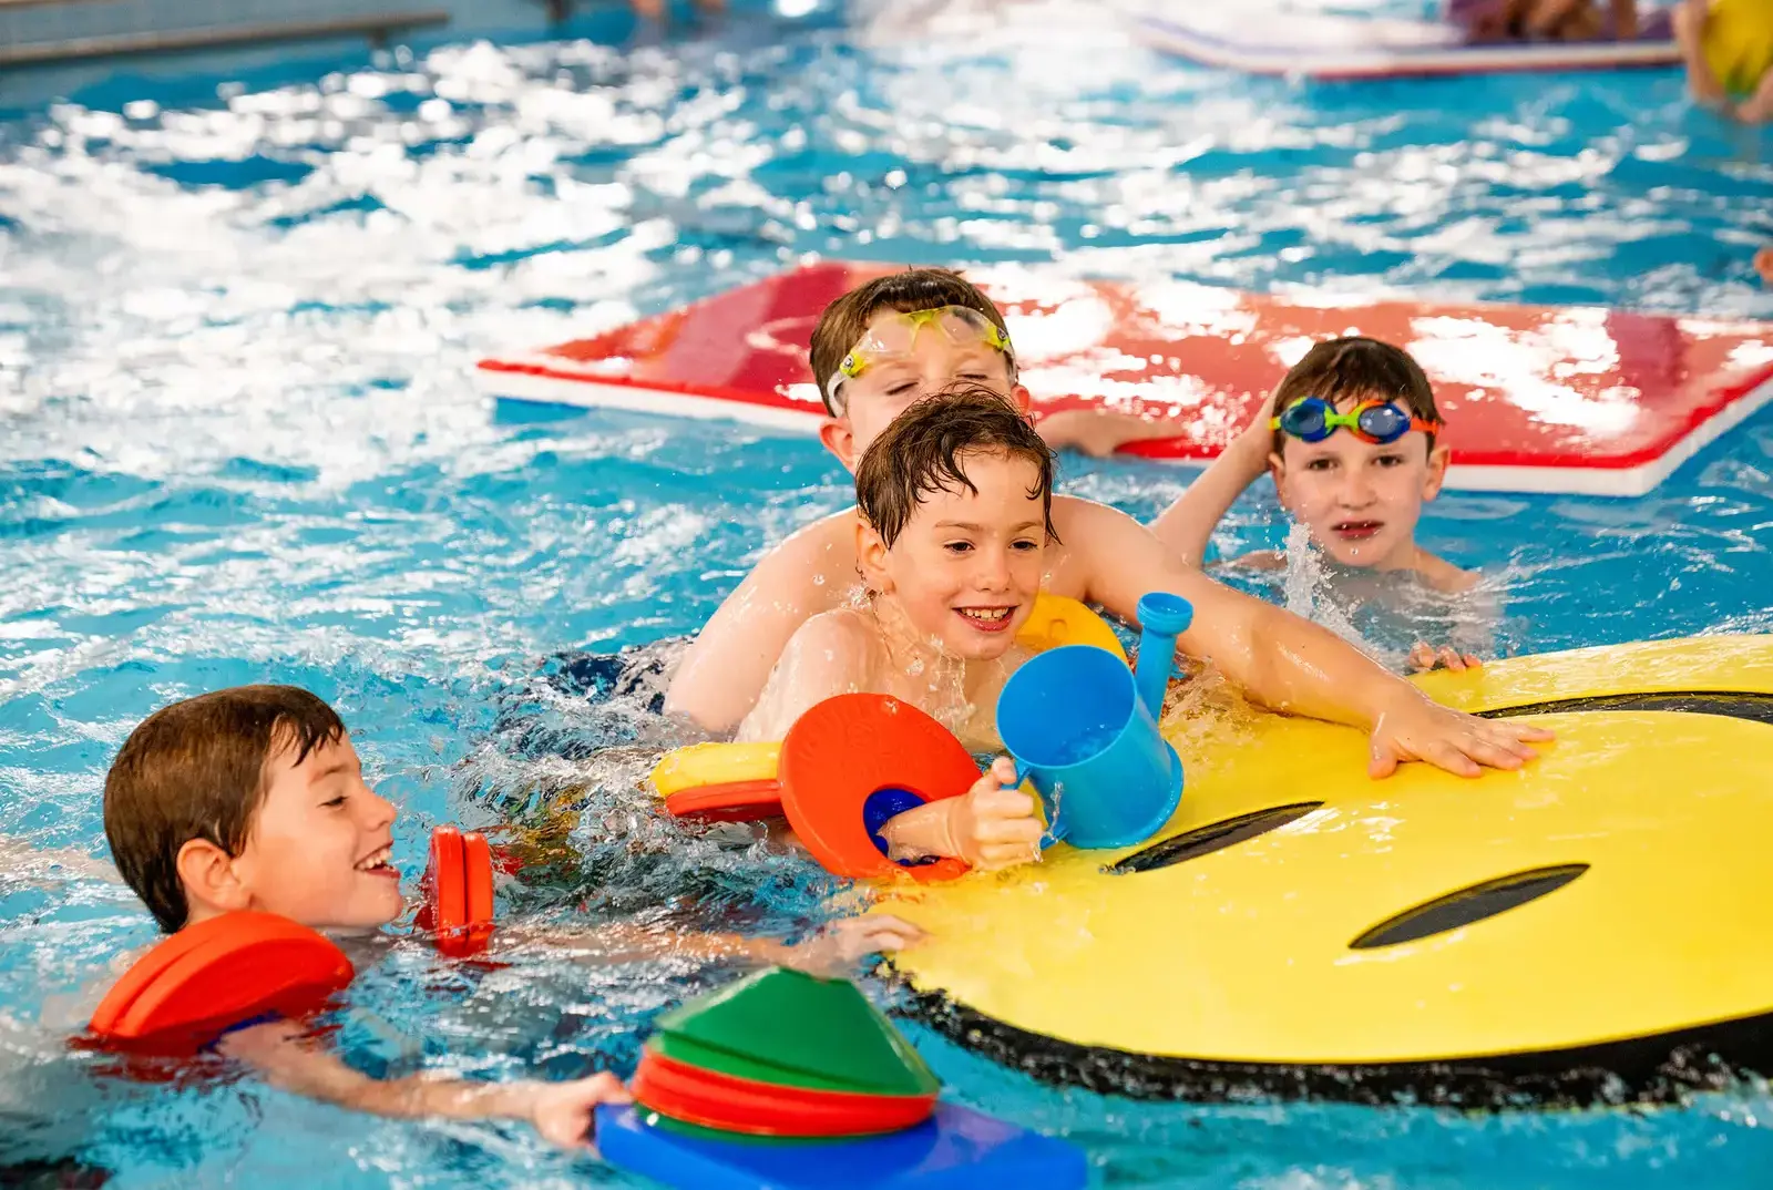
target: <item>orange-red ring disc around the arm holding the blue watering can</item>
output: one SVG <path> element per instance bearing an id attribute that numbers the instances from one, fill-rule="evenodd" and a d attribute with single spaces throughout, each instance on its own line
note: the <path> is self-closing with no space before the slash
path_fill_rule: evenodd
<path id="1" fill-rule="evenodd" d="M 874 846 L 867 800 L 902 789 L 924 802 L 966 793 L 979 766 L 947 727 L 910 702 L 881 693 L 840 693 L 812 708 L 782 741 L 782 809 L 824 867 L 839 876 L 952 880 L 959 860 L 902 865 Z"/>

